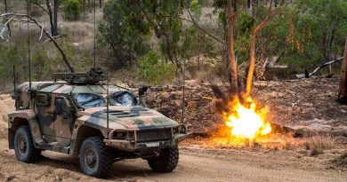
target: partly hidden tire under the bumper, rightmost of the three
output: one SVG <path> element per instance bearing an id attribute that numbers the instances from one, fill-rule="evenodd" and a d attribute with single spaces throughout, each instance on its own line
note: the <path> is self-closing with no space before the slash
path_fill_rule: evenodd
<path id="1" fill-rule="evenodd" d="M 156 157 L 149 158 L 149 167 L 156 172 L 171 172 L 178 163 L 179 151 L 178 146 L 161 149 Z"/>

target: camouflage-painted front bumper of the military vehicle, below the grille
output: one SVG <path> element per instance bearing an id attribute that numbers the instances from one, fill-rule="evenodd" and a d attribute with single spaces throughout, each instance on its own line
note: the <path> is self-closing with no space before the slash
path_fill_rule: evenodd
<path id="1" fill-rule="evenodd" d="M 178 143 L 182 142 L 182 140 L 185 138 L 187 138 L 186 134 L 177 133 L 173 135 L 173 138 L 171 140 L 133 142 L 124 139 L 104 139 L 104 142 L 106 146 L 115 147 L 129 152 L 135 152 L 175 146 Z"/>

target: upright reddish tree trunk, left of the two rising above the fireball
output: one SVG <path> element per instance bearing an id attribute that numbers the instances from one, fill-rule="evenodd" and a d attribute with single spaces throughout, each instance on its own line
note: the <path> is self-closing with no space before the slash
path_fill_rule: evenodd
<path id="1" fill-rule="evenodd" d="M 228 54 L 231 70 L 231 91 L 233 94 L 238 93 L 238 67 L 235 61 L 234 52 L 234 13 L 231 8 L 231 0 L 227 4 L 227 23 L 228 23 Z"/>

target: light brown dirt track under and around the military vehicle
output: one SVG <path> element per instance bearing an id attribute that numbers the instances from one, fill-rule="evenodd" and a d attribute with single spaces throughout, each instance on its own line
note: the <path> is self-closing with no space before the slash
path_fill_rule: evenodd
<path id="1" fill-rule="evenodd" d="M 9 95 L 0 95 L 0 180 L 1 181 L 99 181 L 83 175 L 76 158 L 44 152 L 36 164 L 17 162 L 7 149 L 6 114 L 12 110 Z M 329 161 L 342 150 L 325 151 L 309 157 L 300 151 L 261 148 L 212 149 L 181 146 L 180 162 L 169 174 L 149 170 L 143 160 L 125 160 L 114 164 L 109 181 L 345 181 L 347 171 Z"/>

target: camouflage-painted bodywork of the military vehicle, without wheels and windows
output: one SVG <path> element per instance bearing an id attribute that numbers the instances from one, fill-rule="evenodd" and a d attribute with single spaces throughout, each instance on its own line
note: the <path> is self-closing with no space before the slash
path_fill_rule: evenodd
<path id="1" fill-rule="evenodd" d="M 93 93 L 106 98 L 106 90 L 107 85 L 66 82 L 33 82 L 29 90 L 28 83 L 22 83 L 16 87 L 15 94 L 19 96 L 19 99 L 16 100 L 16 111 L 9 115 L 9 130 L 12 129 L 12 123 L 16 118 L 26 119 L 36 146 L 45 145 L 45 149 L 74 154 L 77 150 L 76 141 L 81 126 L 101 131 L 104 138 L 109 138 L 105 140 L 107 145 L 117 147 L 118 143 L 112 140 L 112 135 L 116 131 L 136 133 L 142 130 L 171 129 L 173 135 L 173 129 L 181 125 L 147 107 L 109 106 L 108 129 L 106 107 L 81 109 L 72 98 L 75 93 Z M 109 85 L 109 94 L 116 91 L 128 90 Z M 60 106 L 64 111 L 63 114 L 57 113 L 55 105 L 57 99 L 62 102 Z M 186 135 L 184 133 L 184 135 L 173 137 L 174 142 L 178 143 Z M 175 143 L 170 144 L 175 145 Z"/>

